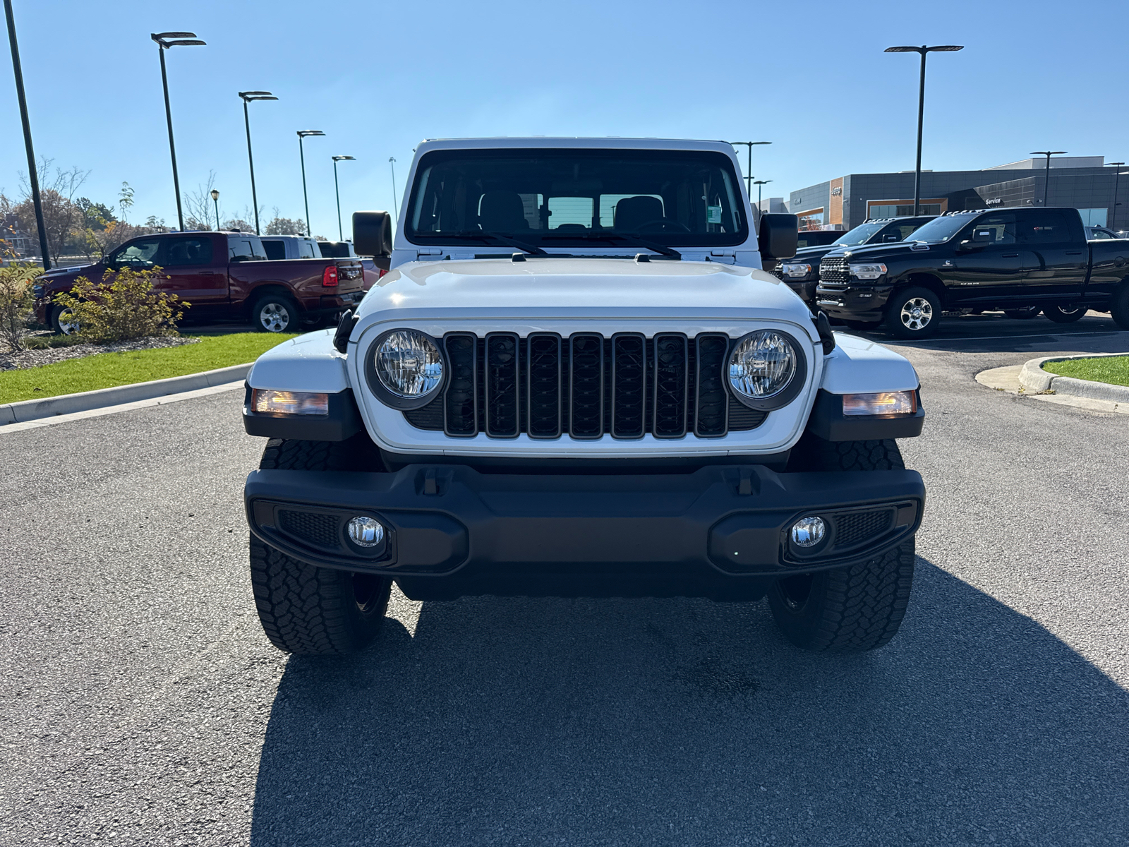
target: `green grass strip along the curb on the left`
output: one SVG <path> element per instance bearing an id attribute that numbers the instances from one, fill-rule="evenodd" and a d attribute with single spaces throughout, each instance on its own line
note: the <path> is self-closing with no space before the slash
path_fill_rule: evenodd
<path id="1" fill-rule="evenodd" d="M 41 400 L 242 365 L 254 361 L 266 350 L 297 334 L 236 332 L 199 335 L 199 344 L 97 353 L 37 368 L 5 370 L 0 372 L 0 403 Z"/>

